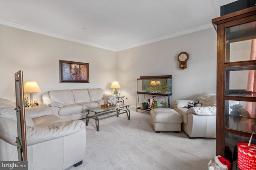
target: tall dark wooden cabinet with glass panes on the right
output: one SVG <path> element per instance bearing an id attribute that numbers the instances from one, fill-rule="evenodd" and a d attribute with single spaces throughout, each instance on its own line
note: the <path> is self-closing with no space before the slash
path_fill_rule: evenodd
<path id="1" fill-rule="evenodd" d="M 233 162 L 237 144 L 248 143 L 256 131 L 256 6 L 212 23 L 217 31 L 216 155 Z"/>

